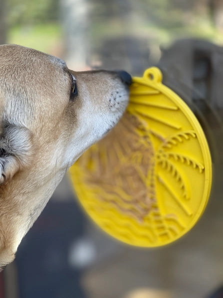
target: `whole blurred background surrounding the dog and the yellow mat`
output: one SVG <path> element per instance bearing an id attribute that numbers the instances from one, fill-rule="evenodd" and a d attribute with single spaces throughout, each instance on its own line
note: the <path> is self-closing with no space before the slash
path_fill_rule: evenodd
<path id="1" fill-rule="evenodd" d="M 0 0 L 4 43 L 58 56 L 73 70 L 141 76 L 157 65 L 199 119 L 215 175 L 197 225 L 152 250 L 100 231 L 64 178 L 0 274 L 0 298 L 223 297 L 223 1 Z"/>

